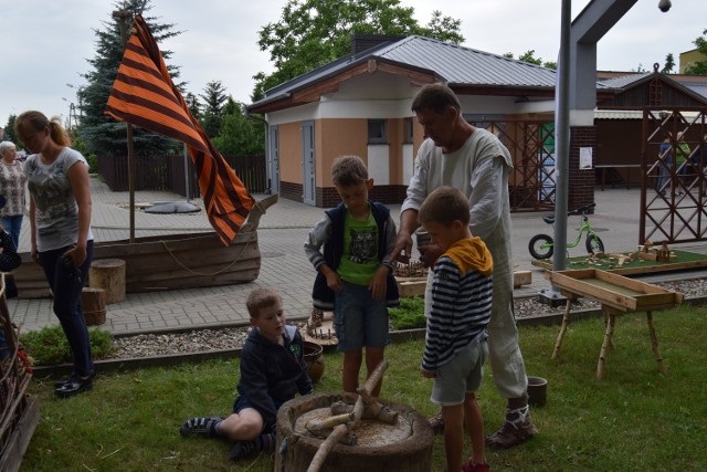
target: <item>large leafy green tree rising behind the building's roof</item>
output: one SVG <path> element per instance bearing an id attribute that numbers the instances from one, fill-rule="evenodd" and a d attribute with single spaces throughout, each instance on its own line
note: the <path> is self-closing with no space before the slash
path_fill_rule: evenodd
<path id="1" fill-rule="evenodd" d="M 256 85 L 251 98 L 258 99 L 264 91 L 349 53 L 355 33 L 420 34 L 454 44 L 464 41 L 460 20 L 434 11 L 421 27 L 413 13 L 400 0 L 289 0 L 281 20 L 257 32 L 257 44 L 270 51 L 276 71 L 253 76 Z"/>

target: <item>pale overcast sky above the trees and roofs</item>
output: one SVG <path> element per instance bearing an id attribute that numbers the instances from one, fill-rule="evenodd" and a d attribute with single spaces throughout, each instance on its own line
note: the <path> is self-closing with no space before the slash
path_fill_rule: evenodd
<path id="1" fill-rule="evenodd" d="M 257 45 L 257 31 L 279 21 L 287 0 L 151 0 L 149 15 L 173 23 L 182 34 L 163 44 L 172 51 L 170 64 L 181 67 L 187 90 L 203 93 L 205 84 L 221 81 L 226 94 L 249 104 L 253 75 L 271 73 L 270 53 Z M 589 0 L 573 0 L 577 14 Z M 518 56 L 535 50 L 544 61 L 557 61 L 560 44 L 561 0 L 400 0 L 414 8 L 420 24 L 432 10 L 462 20 L 462 44 L 494 54 Z M 639 0 L 598 45 L 602 71 L 652 70 L 672 53 L 695 48 L 707 29 L 707 0 L 673 0 L 662 13 L 658 0 Z M 76 90 L 91 70 L 95 30 L 105 30 L 116 2 L 112 0 L 0 0 L 0 126 L 10 114 L 39 109 L 63 115 L 77 106 Z"/>

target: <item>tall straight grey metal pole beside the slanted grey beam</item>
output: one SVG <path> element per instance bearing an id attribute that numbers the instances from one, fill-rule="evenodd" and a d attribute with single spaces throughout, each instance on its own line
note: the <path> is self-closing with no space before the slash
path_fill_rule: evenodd
<path id="1" fill-rule="evenodd" d="M 555 251 L 552 270 L 564 270 L 567 263 L 567 196 L 570 169 L 570 23 L 571 0 L 562 0 L 560 60 L 555 114 Z"/>

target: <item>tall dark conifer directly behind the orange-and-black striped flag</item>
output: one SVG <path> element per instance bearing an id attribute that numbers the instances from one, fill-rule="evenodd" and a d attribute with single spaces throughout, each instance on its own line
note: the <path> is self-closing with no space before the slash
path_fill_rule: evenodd
<path id="1" fill-rule="evenodd" d="M 112 11 L 128 11 L 130 18 L 140 13 L 158 42 L 180 34 L 180 32 L 172 30 L 173 24 L 156 23 L 155 17 L 147 17 L 147 12 L 151 10 L 149 0 L 122 0 L 114 4 L 115 9 Z M 120 20 L 110 17 L 109 21 L 102 21 L 102 23 L 103 29 L 94 30 L 96 34 L 95 55 L 87 60 L 93 70 L 83 75 L 87 84 L 80 91 L 83 118 L 78 135 L 86 144 L 88 153 L 102 156 L 124 156 L 127 154 L 125 123 L 116 122 L 104 114 L 113 82 L 123 60 Z M 127 25 L 127 31 L 129 34 L 129 25 Z M 166 61 L 170 55 L 170 51 L 162 51 Z M 178 67 L 168 66 L 168 69 L 172 80 L 176 81 L 179 77 Z M 136 127 L 134 128 L 134 146 L 135 155 L 139 157 L 170 153 L 178 149 L 179 145 L 173 139 Z"/>

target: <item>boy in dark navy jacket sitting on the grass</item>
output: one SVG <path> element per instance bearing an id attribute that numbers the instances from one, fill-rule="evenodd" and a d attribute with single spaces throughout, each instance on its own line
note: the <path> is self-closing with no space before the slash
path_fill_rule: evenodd
<path id="1" fill-rule="evenodd" d="M 253 329 L 241 352 L 241 380 L 233 413 L 225 419 L 191 418 L 179 428 L 182 436 L 234 440 L 232 460 L 274 450 L 277 409 L 297 392 L 313 391 L 302 336 L 295 326 L 285 324 L 283 301 L 277 292 L 255 289 L 245 305 Z"/>

